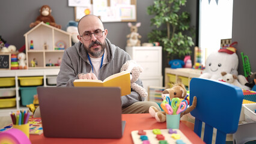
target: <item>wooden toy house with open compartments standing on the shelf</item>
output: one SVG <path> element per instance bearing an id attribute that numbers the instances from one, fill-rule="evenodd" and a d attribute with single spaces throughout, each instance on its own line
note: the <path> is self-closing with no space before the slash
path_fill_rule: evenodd
<path id="1" fill-rule="evenodd" d="M 24 37 L 28 69 L 59 67 L 64 50 L 72 45 L 69 32 L 43 22 L 26 32 Z"/>

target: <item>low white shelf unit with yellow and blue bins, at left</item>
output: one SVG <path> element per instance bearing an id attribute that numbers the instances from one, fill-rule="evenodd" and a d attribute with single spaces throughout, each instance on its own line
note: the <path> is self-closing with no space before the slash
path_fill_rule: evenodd
<path id="1" fill-rule="evenodd" d="M 3 70 L 0 75 L 0 116 L 28 109 L 37 94 L 37 86 L 56 86 L 59 68 Z"/>

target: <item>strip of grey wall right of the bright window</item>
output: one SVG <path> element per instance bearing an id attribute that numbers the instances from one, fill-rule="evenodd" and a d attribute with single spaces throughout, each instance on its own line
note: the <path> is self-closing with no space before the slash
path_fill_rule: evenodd
<path id="1" fill-rule="evenodd" d="M 256 1 L 234 0 L 232 41 L 237 41 L 237 55 L 239 56 L 239 74 L 244 74 L 241 52 L 249 57 L 252 72 L 256 72 Z"/>

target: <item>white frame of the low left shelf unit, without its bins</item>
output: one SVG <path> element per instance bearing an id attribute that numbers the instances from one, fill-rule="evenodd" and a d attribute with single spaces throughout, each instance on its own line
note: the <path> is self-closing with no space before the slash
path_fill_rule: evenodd
<path id="1" fill-rule="evenodd" d="M 20 109 L 28 109 L 27 107 L 20 106 L 20 95 L 19 95 L 19 77 L 31 77 L 31 76 L 43 76 L 43 86 L 50 86 L 47 85 L 46 79 L 47 76 L 57 76 L 59 73 L 59 68 L 50 68 L 50 69 L 33 69 L 33 70 L 1 70 L 0 71 L 0 78 L 1 77 L 15 77 L 15 90 L 16 90 L 16 107 L 11 108 L 1 108 L 0 109 L 0 116 L 6 116 L 10 114 L 10 112 L 15 112 L 16 110 Z M 1 87 L 0 87 L 1 89 Z M 9 89 L 9 88 L 5 88 Z M 13 89 L 10 88 L 10 89 Z"/>

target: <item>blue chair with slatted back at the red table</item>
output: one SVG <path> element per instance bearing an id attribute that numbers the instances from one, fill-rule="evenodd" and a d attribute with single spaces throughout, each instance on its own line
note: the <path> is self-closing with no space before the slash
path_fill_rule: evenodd
<path id="1" fill-rule="evenodd" d="M 243 102 L 242 89 L 217 80 L 192 78 L 190 81 L 190 105 L 197 97 L 194 131 L 201 137 L 204 122 L 204 142 L 212 143 L 213 128 L 217 129 L 216 143 L 225 143 L 228 133 L 235 133 Z"/>

